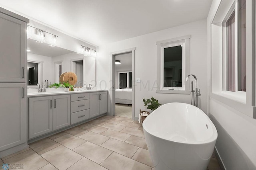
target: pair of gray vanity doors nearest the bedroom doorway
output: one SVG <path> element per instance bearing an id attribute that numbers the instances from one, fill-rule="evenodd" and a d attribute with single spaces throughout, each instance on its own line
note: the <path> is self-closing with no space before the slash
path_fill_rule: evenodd
<path id="1" fill-rule="evenodd" d="M 90 118 L 108 112 L 108 93 L 90 93 Z"/>

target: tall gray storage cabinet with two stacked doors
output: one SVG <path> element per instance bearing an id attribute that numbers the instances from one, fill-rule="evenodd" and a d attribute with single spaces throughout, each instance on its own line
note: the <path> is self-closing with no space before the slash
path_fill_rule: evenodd
<path id="1" fill-rule="evenodd" d="M 28 19 L 0 8 L 0 158 L 27 145 Z"/>

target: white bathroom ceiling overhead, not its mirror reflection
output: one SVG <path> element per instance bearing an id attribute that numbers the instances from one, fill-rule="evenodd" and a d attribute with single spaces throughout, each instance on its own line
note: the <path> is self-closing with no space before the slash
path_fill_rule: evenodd
<path id="1" fill-rule="evenodd" d="M 0 0 L 0 6 L 94 45 L 207 18 L 212 0 Z"/>

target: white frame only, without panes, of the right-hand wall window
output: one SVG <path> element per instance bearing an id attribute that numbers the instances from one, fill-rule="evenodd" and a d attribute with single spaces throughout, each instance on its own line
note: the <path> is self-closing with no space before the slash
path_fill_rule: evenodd
<path id="1" fill-rule="evenodd" d="M 211 56 L 211 84 L 210 98 L 218 100 L 227 106 L 256 119 L 256 72 L 255 72 L 255 2 L 246 0 L 246 92 L 229 92 L 226 90 L 226 29 L 223 23 L 236 9 L 236 27 L 238 18 L 238 0 L 221 2 L 211 20 L 210 28 L 210 56 Z M 237 39 L 236 28 L 236 39 Z M 236 48 L 238 48 L 236 40 Z M 236 50 L 236 56 L 237 56 Z M 236 57 L 237 60 L 237 57 Z M 236 61 L 237 63 L 237 61 Z M 237 67 L 237 66 L 236 66 Z M 222 69 L 220 69 L 222 68 Z M 237 69 L 236 69 L 237 77 Z M 236 84 L 237 84 L 236 78 Z M 236 85 L 237 87 L 237 85 Z"/>

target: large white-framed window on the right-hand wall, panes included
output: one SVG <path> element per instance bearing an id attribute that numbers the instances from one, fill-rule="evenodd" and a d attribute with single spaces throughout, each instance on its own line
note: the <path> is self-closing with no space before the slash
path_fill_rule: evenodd
<path id="1" fill-rule="evenodd" d="M 256 119 L 255 3 L 222 1 L 210 22 L 210 98 Z"/>

